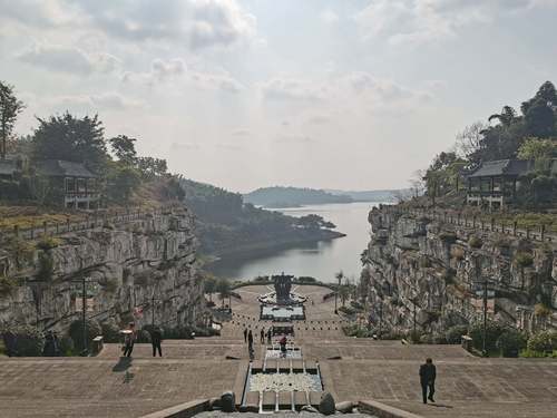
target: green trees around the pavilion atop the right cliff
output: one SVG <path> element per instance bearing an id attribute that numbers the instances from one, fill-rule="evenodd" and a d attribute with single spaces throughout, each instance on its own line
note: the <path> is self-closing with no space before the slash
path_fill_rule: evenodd
<path id="1" fill-rule="evenodd" d="M 465 176 L 482 162 L 518 158 L 534 162 L 534 169 L 520 179 L 516 205 L 544 208 L 557 202 L 557 91 L 550 81 L 525 100 L 520 113 L 504 106 L 488 118 L 491 124 L 475 123 L 457 136 L 456 150 L 437 155 L 417 178 L 432 204 L 439 197 L 451 202 L 465 183 Z"/>

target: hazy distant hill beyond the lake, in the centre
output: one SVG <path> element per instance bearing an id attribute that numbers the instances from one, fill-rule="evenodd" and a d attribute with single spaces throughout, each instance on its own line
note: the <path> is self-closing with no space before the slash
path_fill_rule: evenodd
<path id="1" fill-rule="evenodd" d="M 244 195 L 244 201 L 265 207 L 296 207 L 324 203 L 351 203 L 353 198 L 325 191 L 299 187 L 263 187 Z"/>

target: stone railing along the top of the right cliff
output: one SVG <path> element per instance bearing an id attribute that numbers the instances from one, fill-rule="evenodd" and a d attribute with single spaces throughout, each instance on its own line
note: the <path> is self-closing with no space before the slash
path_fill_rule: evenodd
<path id="1" fill-rule="evenodd" d="M 433 208 L 410 208 L 404 206 L 382 205 L 382 211 L 392 214 L 408 214 L 414 217 L 427 217 L 439 221 L 444 224 L 469 227 L 480 232 L 499 232 L 505 235 L 524 237 L 538 242 L 557 242 L 557 235 L 547 231 L 546 225 L 539 225 L 534 229 L 519 229 L 518 222 L 508 223 L 497 220 L 491 216 L 488 222 L 485 217 L 470 216 L 452 210 L 433 210 Z"/>

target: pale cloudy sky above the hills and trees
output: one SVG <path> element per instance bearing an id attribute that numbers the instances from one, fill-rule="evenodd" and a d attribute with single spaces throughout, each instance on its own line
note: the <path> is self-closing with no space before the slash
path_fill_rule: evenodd
<path id="1" fill-rule="evenodd" d="M 0 0 L 0 80 L 188 178 L 407 187 L 557 82 L 557 0 Z"/>

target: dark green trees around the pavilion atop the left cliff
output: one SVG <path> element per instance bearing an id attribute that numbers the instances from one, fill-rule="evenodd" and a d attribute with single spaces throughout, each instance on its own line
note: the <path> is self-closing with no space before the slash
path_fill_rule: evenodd
<path id="1" fill-rule="evenodd" d="M 79 118 L 66 111 L 37 118 L 38 126 L 32 135 L 13 138 L 9 142 L 10 149 L 7 149 L 7 139 L 12 137 L 13 124 L 25 105 L 17 99 L 11 86 L 0 81 L 0 155 L 4 158 L 11 150 L 19 155 L 20 161 L 30 161 L 29 165 L 21 164 L 13 178 L 0 182 L 0 200 L 17 204 L 28 202 L 41 206 L 62 206 L 63 184 L 39 169 L 43 161 L 84 164 L 97 176 L 98 191 L 113 205 L 140 204 L 145 196 L 136 194 L 153 183 L 157 184 L 159 196 L 153 196 L 150 202 L 157 202 L 157 197 L 184 198 L 184 191 L 177 177 L 168 174 L 165 159 L 138 156 L 136 138 L 118 135 L 107 139 L 98 115 Z M 6 107 L 6 103 L 11 105 Z M 26 158 L 21 158 L 22 155 Z"/>

